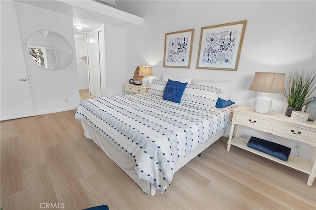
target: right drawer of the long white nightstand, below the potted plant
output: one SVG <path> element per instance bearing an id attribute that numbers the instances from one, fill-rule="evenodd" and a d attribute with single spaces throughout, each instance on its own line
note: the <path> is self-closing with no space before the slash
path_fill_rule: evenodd
<path id="1" fill-rule="evenodd" d="M 276 122 L 273 131 L 316 142 L 316 132 Z"/>

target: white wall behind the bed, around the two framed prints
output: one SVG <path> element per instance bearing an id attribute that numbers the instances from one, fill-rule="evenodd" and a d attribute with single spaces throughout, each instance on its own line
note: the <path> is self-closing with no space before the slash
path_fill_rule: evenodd
<path id="1" fill-rule="evenodd" d="M 253 106 L 258 92 L 248 90 L 255 72 L 288 73 L 316 70 L 316 1 L 190 1 L 119 0 L 116 8 L 144 18 L 143 27 L 128 31 L 128 78 L 138 65 L 153 66 L 153 74 L 195 77 L 207 80 L 234 80 L 229 97 L 238 105 Z M 247 20 L 237 71 L 196 69 L 201 27 Z M 195 29 L 192 62 L 189 69 L 164 68 L 164 35 Z M 282 94 L 270 94 L 272 109 L 284 113 Z M 249 138 L 253 133 L 241 129 Z M 270 139 L 264 133 L 259 138 Z M 225 136 L 228 136 L 226 132 Z M 288 147 L 294 141 L 272 136 Z M 310 146 L 301 145 L 300 156 L 311 157 Z M 292 153 L 298 154 L 296 150 Z"/>

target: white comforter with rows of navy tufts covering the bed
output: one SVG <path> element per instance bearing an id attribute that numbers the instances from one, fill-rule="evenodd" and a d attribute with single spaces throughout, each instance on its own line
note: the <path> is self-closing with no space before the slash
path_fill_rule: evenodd
<path id="1" fill-rule="evenodd" d="M 227 127 L 232 112 L 142 93 L 83 100 L 75 117 L 127 155 L 137 176 L 162 193 L 179 158 Z"/>

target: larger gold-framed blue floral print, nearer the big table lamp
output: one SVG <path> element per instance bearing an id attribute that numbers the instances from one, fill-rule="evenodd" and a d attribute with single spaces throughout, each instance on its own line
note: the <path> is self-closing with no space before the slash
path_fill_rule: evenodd
<path id="1" fill-rule="evenodd" d="M 197 68 L 237 71 L 247 21 L 201 28 Z"/>

